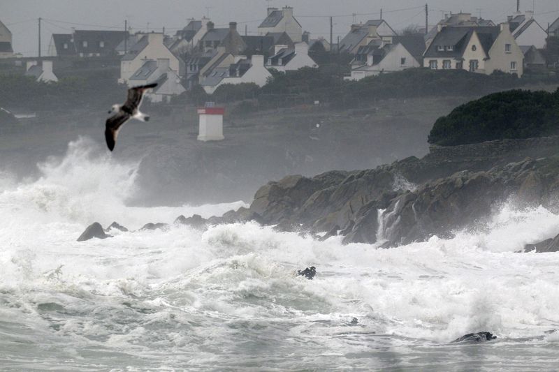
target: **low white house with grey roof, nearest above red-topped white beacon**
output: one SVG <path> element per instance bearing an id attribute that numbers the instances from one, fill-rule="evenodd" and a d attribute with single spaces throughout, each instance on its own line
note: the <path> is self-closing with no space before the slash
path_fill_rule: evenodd
<path id="1" fill-rule="evenodd" d="M 264 66 L 264 56 L 254 54 L 251 59 L 235 56 L 233 64 L 208 70 L 200 85 L 206 93 L 212 94 L 223 84 L 252 82 L 263 87 L 269 77 L 272 77 L 272 74 Z"/>

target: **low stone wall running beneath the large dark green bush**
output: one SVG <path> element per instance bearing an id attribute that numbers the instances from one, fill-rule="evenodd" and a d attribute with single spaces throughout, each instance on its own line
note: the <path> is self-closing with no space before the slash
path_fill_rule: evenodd
<path id="1" fill-rule="evenodd" d="M 449 161 L 480 158 L 503 158 L 507 156 L 546 156 L 559 152 L 559 135 L 535 137 L 523 140 L 495 140 L 458 146 L 429 147 L 430 161 Z"/>

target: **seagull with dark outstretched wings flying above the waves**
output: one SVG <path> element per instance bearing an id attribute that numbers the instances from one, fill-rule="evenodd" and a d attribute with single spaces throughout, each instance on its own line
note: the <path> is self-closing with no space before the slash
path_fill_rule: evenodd
<path id="1" fill-rule="evenodd" d="M 149 116 L 140 112 L 140 105 L 142 104 L 144 92 L 155 87 L 157 87 L 157 83 L 130 88 L 128 89 L 128 98 L 126 98 L 124 105 L 112 105 L 109 114 L 113 115 L 107 119 L 105 124 L 105 139 L 110 151 L 115 148 L 118 131 L 126 121 L 132 118 L 141 121 L 150 120 Z"/>

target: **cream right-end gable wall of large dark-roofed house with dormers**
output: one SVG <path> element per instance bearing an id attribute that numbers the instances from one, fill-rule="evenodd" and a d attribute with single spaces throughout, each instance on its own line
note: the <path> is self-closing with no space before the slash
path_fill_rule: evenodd
<path id="1" fill-rule="evenodd" d="M 507 52 L 505 45 L 510 45 Z M 513 68 L 514 67 L 514 68 Z M 501 70 L 504 73 L 516 73 L 521 77 L 524 73 L 524 54 L 514 40 L 508 24 L 501 24 L 501 32 L 489 50 L 489 59 L 486 62 L 486 73 Z"/>

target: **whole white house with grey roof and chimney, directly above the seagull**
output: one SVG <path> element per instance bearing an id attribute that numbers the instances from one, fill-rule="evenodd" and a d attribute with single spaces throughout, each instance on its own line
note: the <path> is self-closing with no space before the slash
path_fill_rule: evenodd
<path id="1" fill-rule="evenodd" d="M 152 32 L 144 34 L 138 38 L 138 42 L 131 45 L 130 49 L 120 60 L 120 79 L 119 82 L 128 83 L 128 80 L 138 71 L 146 61 L 167 59 L 169 68 L 176 75 L 182 76 L 184 73 L 184 62 L 182 62 L 164 44 L 162 33 Z"/>

